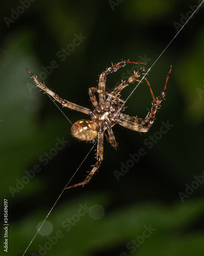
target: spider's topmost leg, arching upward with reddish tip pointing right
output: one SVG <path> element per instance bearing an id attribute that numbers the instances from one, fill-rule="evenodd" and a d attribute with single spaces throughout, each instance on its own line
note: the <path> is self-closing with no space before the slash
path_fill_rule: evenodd
<path id="1" fill-rule="evenodd" d="M 132 62 L 132 61 L 126 61 L 126 60 L 123 60 L 119 63 L 117 63 L 116 65 L 113 65 L 112 67 L 108 68 L 106 71 L 104 71 L 100 77 L 99 77 L 99 82 L 98 82 L 98 89 L 99 90 L 102 90 L 103 92 L 106 91 L 106 76 L 108 74 L 111 74 L 113 72 L 116 72 L 119 68 L 121 67 L 124 67 L 127 63 L 132 63 L 132 64 L 146 64 L 144 62 Z M 105 95 L 103 94 L 100 94 L 99 95 L 99 101 L 101 99 L 104 99 L 105 100 Z"/>

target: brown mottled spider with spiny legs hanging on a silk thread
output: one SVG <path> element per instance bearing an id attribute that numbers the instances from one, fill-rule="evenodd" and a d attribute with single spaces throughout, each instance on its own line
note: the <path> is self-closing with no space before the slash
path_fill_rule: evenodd
<path id="1" fill-rule="evenodd" d="M 140 75 L 142 75 L 144 72 L 148 71 L 148 69 L 140 68 L 140 70 L 138 72 L 134 72 L 134 75 L 132 75 L 130 78 L 128 78 L 125 81 L 122 81 L 121 84 L 118 87 L 116 87 L 111 93 L 106 92 L 107 75 L 110 73 L 116 72 L 119 68 L 124 67 L 127 63 L 145 65 L 145 63 L 143 62 L 132 62 L 132 61 L 123 60 L 118 64 L 112 65 L 112 67 L 106 69 L 106 71 L 104 71 L 99 77 L 98 88 L 89 89 L 89 96 L 95 108 L 94 111 L 91 111 L 87 108 L 84 108 L 83 106 L 74 104 L 70 101 L 60 98 L 57 94 L 49 90 L 45 86 L 45 84 L 42 84 L 41 82 L 39 82 L 37 79 L 37 76 L 35 77 L 27 69 L 27 71 L 30 73 L 30 75 L 33 77 L 34 81 L 36 82 L 36 85 L 40 89 L 42 89 L 48 95 L 52 96 L 55 100 L 60 102 L 63 106 L 66 106 L 66 108 L 85 113 L 91 117 L 91 120 L 82 119 L 75 122 L 71 126 L 71 133 L 75 138 L 78 138 L 79 140 L 94 141 L 97 138 L 97 153 L 96 153 L 97 161 L 84 181 L 74 184 L 72 186 L 66 187 L 66 189 L 86 185 L 90 181 L 94 173 L 98 170 L 101 162 L 103 161 L 104 136 L 108 139 L 108 141 L 111 143 L 113 147 L 115 148 L 117 147 L 117 142 L 112 130 L 112 127 L 115 124 L 120 124 L 121 126 L 126 127 L 127 129 L 134 130 L 136 132 L 146 133 L 148 132 L 152 123 L 155 120 L 157 109 L 166 93 L 166 86 L 167 86 L 167 82 L 168 82 L 172 67 L 170 67 L 168 76 L 166 78 L 164 90 L 161 92 L 158 98 L 155 98 L 149 82 L 147 81 L 147 79 L 145 79 L 150 89 L 153 102 L 152 102 L 151 110 L 148 112 L 147 116 L 144 119 L 142 119 L 142 118 L 137 118 L 137 117 L 123 114 L 122 112 L 124 111 L 124 101 L 121 100 L 119 96 L 120 96 L 121 90 L 124 89 L 126 86 L 128 86 L 129 83 L 133 81 L 140 81 L 140 80 L 137 80 L 137 78 L 140 77 Z M 98 94 L 98 100 L 96 99 L 95 93 Z"/>

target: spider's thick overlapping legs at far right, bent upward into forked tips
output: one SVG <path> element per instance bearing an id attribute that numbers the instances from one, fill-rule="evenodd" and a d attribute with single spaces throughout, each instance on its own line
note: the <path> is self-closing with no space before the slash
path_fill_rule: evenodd
<path id="1" fill-rule="evenodd" d="M 153 103 L 152 103 L 152 107 L 151 110 L 149 111 L 149 113 L 147 114 L 147 116 L 145 117 L 145 119 L 142 118 L 137 118 L 137 117 L 133 117 L 133 116 L 129 116 L 129 115 L 125 115 L 123 113 L 120 114 L 120 118 L 117 119 L 117 123 L 120 124 L 121 126 L 127 128 L 127 129 L 131 129 L 137 132 L 148 132 L 148 130 L 150 129 L 152 123 L 155 121 L 155 116 L 156 116 L 156 112 L 157 109 L 161 103 L 161 101 L 164 99 L 165 93 L 166 93 L 166 86 L 167 86 L 167 82 L 169 79 L 169 75 L 171 73 L 171 69 L 172 66 L 170 67 L 168 76 L 166 78 L 166 82 L 165 82 L 165 86 L 164 86 L 164 90 L 161 92 L 160 96 L 155 99 L 155 96 L 151 90 L 150 84 L 147 81 L 147 84 L 149 86 L 152 98 L 153 98 Z M 146 126 L 144 126 L 146 125 Z"/>

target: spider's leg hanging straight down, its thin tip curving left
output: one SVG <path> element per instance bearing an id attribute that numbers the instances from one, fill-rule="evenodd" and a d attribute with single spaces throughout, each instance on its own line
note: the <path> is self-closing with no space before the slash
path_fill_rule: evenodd
<path id="1" fill-rule="evenodd" d="M 92 176 L 94 175 L 96 170 L 99 168 L 101 162 L 103 161 L 103 153 L 104 153 L 104 133 L 103 132 L 100 133 L 98 131 L 98 145 L 97 145 L 97 155 L 96 155 L 97 162 L 96 162 L 96 164 L 93 166 L 93 169 L 91 170 L 91 172 L 88 174 L 88 176 L 86 177 L 86 179 L 83 182 L 66 187 L 65 189 L 86 185 L 91 180 Z"/>

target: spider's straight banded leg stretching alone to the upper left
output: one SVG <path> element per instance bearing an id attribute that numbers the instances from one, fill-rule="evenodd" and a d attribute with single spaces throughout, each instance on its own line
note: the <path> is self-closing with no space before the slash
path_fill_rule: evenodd
<path id="1" fill-rule="evenodd" d="M 36 82 L 37 87 L 39 87 L 40 89 L 42 89 L 44 92 L 46 92 L 48 95 L 52 96 L 55 100 L 57 100 L 58 102 L 60 102 L 63 106 L 66 106 L 66 108 L 69 108 L 71 110 L 76 110 L 82 113 L 85 113 L 87 115 L 90 115 L 92 112 L 87 109 L 84 108 L 83 106 L 74 104 L 70 101 L 67 101 L 65 99 L 60 98 L 57 94 L 55 94 L 54 92 L 52 92 L 51 90 L 49 90 L 44 84 L 42 84 L 41 82 L 38 81 L 37 77 L 35 77 L 28 69 L 26 69 L 29 74 L 33 77 L 34 81 Z"/>

